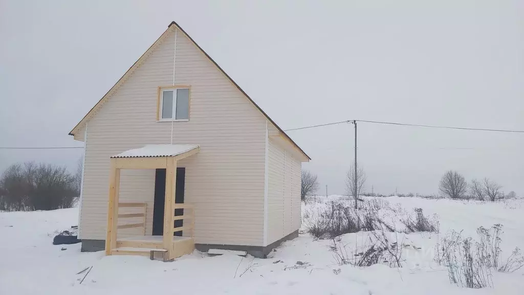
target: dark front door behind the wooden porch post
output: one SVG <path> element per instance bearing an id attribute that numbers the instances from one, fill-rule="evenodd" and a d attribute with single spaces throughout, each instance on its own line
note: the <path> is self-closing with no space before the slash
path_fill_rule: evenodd
<path id="1" fill-rule="evenodd" d="M 184 180 L 185 168 L 177 167 L 177 187 L 174 192 L 174 202 L 184 203 Z M 154 236 L 163 235 L 163 213 L 164 202 L 166 200 L 166 170 L 157 169 L 155 173 L 155 205 L 153 206 L 153 233 Z M 174 215 L 183 215 L 184 209 L 175 209 Z M 174 226 L 182 226 L 183 220 L 175 220 Z M 175 236 L 182 236 L 182 231 L 174 233 Z"/>

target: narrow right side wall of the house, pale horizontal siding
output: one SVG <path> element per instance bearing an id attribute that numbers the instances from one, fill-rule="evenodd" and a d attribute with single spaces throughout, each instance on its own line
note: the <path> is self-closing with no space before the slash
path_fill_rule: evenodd
<path id="1" fill-rule="evenodd" d="M 301 166 L 291 152 L 269 140 L 267 244 L 300 228 Z"/>

